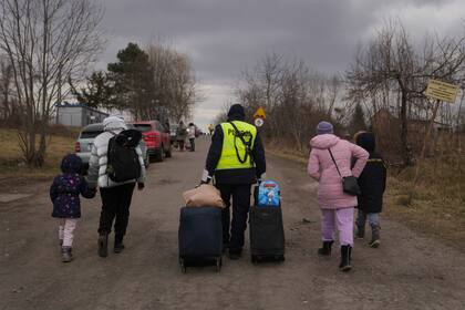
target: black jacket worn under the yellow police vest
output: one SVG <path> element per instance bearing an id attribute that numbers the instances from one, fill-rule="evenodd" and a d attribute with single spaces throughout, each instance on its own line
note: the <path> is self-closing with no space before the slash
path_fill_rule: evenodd
<path id="1" fill-rule="evenodd" d="M 232 117 L 230 121 L 242 121 L 240 117 Z M 221 157 L 223 152 L 223 140 L 224 133 L 220 125 L 217 125 L 215 133 L 211 136 L 211 145 L 208 151 L 206 169 L 209 176 L 215 176 L 217 184 L 254 184 L 257 178 L 267 170 L 267 164 L 265 159 L 265 148 L 261 143 L 260 135 L 257 132 L 255 137 L 252 158 L 255 162 L 255 168 L 244 169 L 224 169 L 216 170 L 216 166 Z"/>

